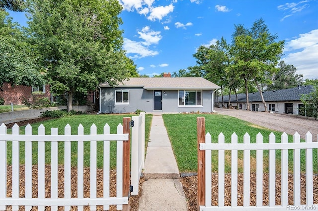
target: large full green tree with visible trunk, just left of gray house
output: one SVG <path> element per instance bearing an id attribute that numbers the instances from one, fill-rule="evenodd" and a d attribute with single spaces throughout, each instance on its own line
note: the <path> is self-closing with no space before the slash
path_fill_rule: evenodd
<path id="1" fill-rule="evenodd" d="M 54 92 L 86 94 L 127 76 L 117 0 L 29 0 L 29 28 Z"/>

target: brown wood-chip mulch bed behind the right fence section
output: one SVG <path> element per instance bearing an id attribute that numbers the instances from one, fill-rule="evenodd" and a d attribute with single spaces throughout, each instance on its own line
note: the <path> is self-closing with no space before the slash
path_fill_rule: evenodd
<path id="1" fill-rule="evenodd" d="M 293 205 L 293 175 L 288 175 L 288 204 Z M 318 176 L 313 176 L 313 198 L 314 204 L 318 204 Z M 187 198 L 188 211 L 197 211 L 197 176 L 183 177 L 181 183 Z M 231 175 L 225 175 L 225 202 L 224 205 L 231 205 Z M 243 174 L 238 175 L 238 206 L 243 206 Z M 211 205 L 218 205 L 218 175 L 212 175 L 212 201 Z M 281 175 L 276 175 L 276 205 L 281 205 Z M 306 179 L 301 175 L 301 204 L 306 204 Z M 250 205 L 256 205 L 256 174 L 250 176 Z M 263 174 L 263 205 L 268 205 L 268 174 Z"/>

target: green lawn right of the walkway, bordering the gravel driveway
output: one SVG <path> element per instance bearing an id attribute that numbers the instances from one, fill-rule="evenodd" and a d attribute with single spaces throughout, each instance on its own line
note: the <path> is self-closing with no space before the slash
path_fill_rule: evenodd
<path id="1" fill-rule="evenodd" d="M 239 120 L 230 116 L 219 114 L 164 114 L 163 120 L 168 131 L 173 152 L 177 160 L 180 172 L 197 172 L 197 117 L 205 117 L 206 133 L 212 136 L 212 143 L 217 143 L 218 135 L 222 132 L 225 142 L 231 142 L 231 135 L 238 135 L 238 143 L 243 143 L 243 136 L 247 132 L 250 135 L 251 143 L 256 142 L 256 135 L 260 132 L 263 135 L 263 142 L 268 143 L 268 136 L 273 132 L 276 142 L 280 142 L 282 132 L 270 131 L 252 123 Z M 293 141 L 293 136 L 288 136 L 288 142 Z M 304 141 L 304 140 L 302 140 Z M 317 172 L 317 150 L 313 156 L 314 171 Z M 268 150 L 264 150 L 264 171 L 268 172 Z M 293 151 L 289 150 L 289 171 L 293 169 Z M 251 172 L 255 172 L 256 152 L 251 151 Z M 231 153 L 225 153 L 225 170 L 231 171 Z M 301 170 L 305 171 L 305 150 L 301 150 Z M 281 152 L 276 150 L 276 171 L 280 172 Z M 217 172 L 218 156 L 217 151 L 212 152 L 212 171 Z M 238 170 L 243 171 L 243 151 L 238 152 Z"/>

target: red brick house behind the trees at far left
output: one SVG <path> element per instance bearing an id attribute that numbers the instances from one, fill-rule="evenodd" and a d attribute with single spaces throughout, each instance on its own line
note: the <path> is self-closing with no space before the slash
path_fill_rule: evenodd
<path id="1" fill-rule="evenodd" d="M 23 104 L 23 99 L 30 99 L 31 97 L 47 97 L 51 99 L 50 86 L 11 86 L 9 83 L 4 83 L 0 89 L 0 97 L 4 98 L 5 104 L 14 105 Z"/>

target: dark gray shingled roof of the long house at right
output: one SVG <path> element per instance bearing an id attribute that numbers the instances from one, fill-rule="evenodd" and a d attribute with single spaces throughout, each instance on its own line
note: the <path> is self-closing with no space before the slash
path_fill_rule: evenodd
<path id="1" fill-rule="evenodd" d="M 309 94 L 314 90 L 313 86 L 300 86 L 294 87 L 290 89 L 281 89 L 274 91 L 265 91 L 263 92 L 263 97 L 265 101 L 299 101 L 301 95 Z M 249 102 L 261 102 L 262 99 L 260 97 L 259 92 L 248 93 Z M 246 94 L 238 94 L 239 102 L 246 102 Z M 219 97 L 219 102 L 222 99 Z M 229 95 L 223 96 L 224 102 L 229 102 Z M 236 96 L 231 95 L 231 102 L 236 102 Z"/>

